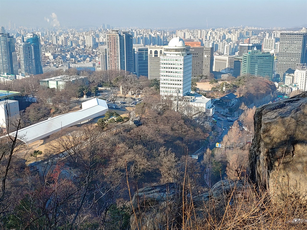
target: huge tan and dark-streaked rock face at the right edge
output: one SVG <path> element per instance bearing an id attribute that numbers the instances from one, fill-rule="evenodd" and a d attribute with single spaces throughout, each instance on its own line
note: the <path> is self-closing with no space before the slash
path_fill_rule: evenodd
<path id="1" fill-rule="evenodd" d="M 307 201 L 307 92 L 255 112 L 251 179 L 274 200 Z"/>

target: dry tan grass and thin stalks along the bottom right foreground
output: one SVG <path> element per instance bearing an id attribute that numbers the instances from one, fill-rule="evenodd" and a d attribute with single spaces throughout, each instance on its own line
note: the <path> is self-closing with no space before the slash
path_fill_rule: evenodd
<path id="1" fill-rule="evenodd" d="M 148 213 L 142 210 L 154 209 L 156 213 L 165 208 L 157 205 L 144 207 L 142 203 L 133 210 L 138 227 L 131 226 L 131 230 L 305 230 L 307 229 L 307 209 L 299 200 L 289 197 L 282 203 L 272 202 L 266 191 L 258 191 L 253 186 L 246 184 L 243 188 L 234 187 L 232 190 L 222 191 L 220 197 L 210 197 L 200 202 L 193 201 L 192 187 L 188 178 L 183 191 L 178 192 L 177 210 L 182 210 L 174 218 L 174 213 L 161 213 L 165 215 L 160 220 L 153 220 Z M 183 186 L 183 184 L 182 184 Z M 223 188 L 221 188 L 223 190 Z M 184 194 L 184 195 L 183 195 Z M 182 207 L 184 204 L 184 207 Z M 173 206 L 172 201 L 167 201 L 166 206 Z M 163 206 L 163 207 L 162 207 Z M 180 208 L 181 206 L 181 208 Z M 135 213 L 137 212 L 137 215 Z M 159 214 L 161 216 L 161 214 Z M 147 216 L 146 216 L 147 215 Z M 170 220 L 168 223 L 161 220 Z M 144 221 L 147 219 L 146 221 Z M 135 223 L 135 221 L 133 222 Z M 141 221 L 142 220 L 142 221 Z M 159 224 L 149 224 L 150 221 Z M 142 222 L 142 224 L 141 224 Z M 146 223 L 146 224 L 144 224 Z M 150 227 L 149 227 L 150 226 Z M 159 227 L 158 227 L 159 226 Z M 135 227 L 135 228 L 134 228 Z M 149 227 L 149 228 L 148 228 Z"/>

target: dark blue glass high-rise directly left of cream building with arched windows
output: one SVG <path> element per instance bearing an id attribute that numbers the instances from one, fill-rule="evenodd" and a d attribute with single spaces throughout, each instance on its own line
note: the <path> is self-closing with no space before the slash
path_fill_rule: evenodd
<path id="1" fill-rule="evenodd" d="M 133 72 L 148 77 L 148 47 L 133 45 Z"/>

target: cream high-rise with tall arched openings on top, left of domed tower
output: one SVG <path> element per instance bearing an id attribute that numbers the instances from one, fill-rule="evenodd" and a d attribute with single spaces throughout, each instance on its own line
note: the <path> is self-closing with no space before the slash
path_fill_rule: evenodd
<path id="1" fill-rule="evenodd" d="M 164 54 L 163 46 L 148 47 L 148 79 L 160 79 L 160 58 Z"/>

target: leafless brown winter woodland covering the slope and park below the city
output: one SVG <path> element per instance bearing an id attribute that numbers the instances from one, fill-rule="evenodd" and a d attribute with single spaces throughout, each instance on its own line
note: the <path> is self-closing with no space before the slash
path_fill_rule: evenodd
<path id="1" fill-rule="evenodd" d="M 129 113 L 130 121 L 139 117 L 142 125 L 130 122 L 105 125 L 103 121 L 63 130 L 53 136 L 49 154 L 43 160 L 46 166 L 41 169 L 26 165 L 27 157 L 33 153 L 16 136 L 1 138 L 2 228 L 129 229 L 131 199 L 139 188 L 165 183 L 182 185 L 188 180 L 192 194 L 208 191 L 223 179 L 248 177 L 250 145 L 238 146 L 245 134 L 237 121 L 223 137 L 226 148 L 208 148 L 203 159 L 197 161 L 190 155 L 199 148 L 200 140 L 211 138 L 213 130 L 195 121 L 191 113 L 197 113 L 197 109 L 193 106 L 176 112 L 170 98 L 158 95 L 158 81 L 125 72 L 70 69 L 63 74 L 89 76 L 89 84 L 68 82 L 59 91 L 43 89 L 40 79 L 59 75 L 48 73 L 0 86 L 20 91 L 25 97 L 38 98 L 37 103 L 25 109 L 20 121 L 13 124 L 14 129 L 65 113 L 71 109 L 73 99 L 84 91 L 95 94 L 101 86 L 122 86 L 124 99 L 129 91 L 142 91 L 143 102 Z M 242 77 L 227 87 L 242 98 L 241 119 L 254 135 L 255 106 L 249 108 L 245 102 L 255 103 L 273 94 L 275 85 L 262 78 Z M 66 155 L 60 157 L 63 152 Z"/>

